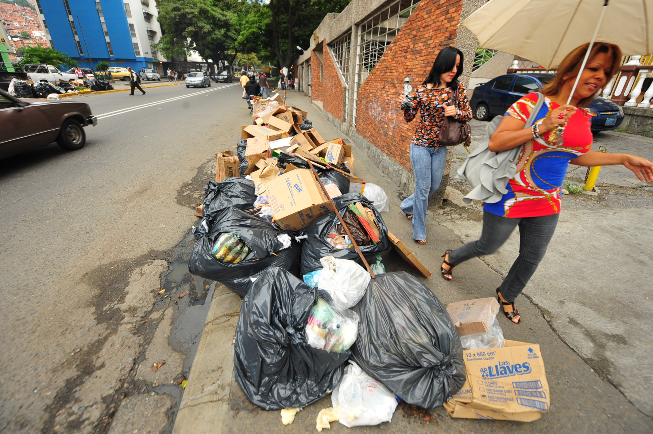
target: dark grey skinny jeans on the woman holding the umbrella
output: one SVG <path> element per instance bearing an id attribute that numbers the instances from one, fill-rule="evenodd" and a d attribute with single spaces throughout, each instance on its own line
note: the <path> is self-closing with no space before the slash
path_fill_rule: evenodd
<path id="1" fill-rule="evenodd" d="M 449 263 L 456 266 L 475 256 L 490 255 L 505 243 L 519 226 L 519 256 L 499 287 L 508 302 L 514 302 L 530 280 L 547 252 L 549 241 L 558 225 L 560 214 L 541 217 L 501 217 L 483 212 L 481 238 L 471 241 L 449 254 Z"/>

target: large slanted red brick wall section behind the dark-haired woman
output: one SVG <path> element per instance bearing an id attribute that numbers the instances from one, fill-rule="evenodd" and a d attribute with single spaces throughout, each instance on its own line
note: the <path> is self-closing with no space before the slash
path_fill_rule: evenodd
<path id="1" fill-rule="evenodd" d="M 409 170 L 419 114 L 404 121 L 397 101 L 404 77 L 413 87 L 424 81 L 439 50 L 454 45 L 461 9 L 462 0 L 422 0 L 358 91 L 357 134 Z"/>

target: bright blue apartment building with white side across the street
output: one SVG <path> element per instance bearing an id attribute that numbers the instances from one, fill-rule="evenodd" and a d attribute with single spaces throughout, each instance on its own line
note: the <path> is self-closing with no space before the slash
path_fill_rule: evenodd
<path id="1" fill-rule="evenodd" d="M 80 66 L 91 67 L 91 60 L 93 65 L 103 60 L 112 67 L 131 67 L 136 71 L 161 69 L 157 53 L 150 46 L 159 39 L 157 30 L 161 29 L 146 9 L 148 0 L 140 1 L 142 10 L 133 10 L 141 5 L 129 0 L 37 0 L 36 3 L 52 46 L 71 56 Z M 149 23 L 152 19 L 152 24 L 136 23 L 147 32 L 144 33 L 149 39 L 144 41 L 147 46 L 139 46 L 144 37 L 136 39 L 135 24 L 127 20 L 128 16 L 131 21 L 136 18 L 142 21 L 144 17 Z"/>

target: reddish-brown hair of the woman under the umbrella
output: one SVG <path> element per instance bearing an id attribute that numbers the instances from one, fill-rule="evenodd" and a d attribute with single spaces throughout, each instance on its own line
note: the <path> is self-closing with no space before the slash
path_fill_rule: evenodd
<path id="1" fill-rule="evenodd" d="M 542 86 L 542 93 L 545 95 L 558 95 L 562 90 L 562 85 L 565 80 L 575 80 L 578 74 L 581 73 L 582 59 L 584 59 L 589 46 L 589 42 L 582 44 L 581 46 L 571 50 L 569 54 L 565 55 L 565 58 L 560 62 L 558 72 L 556 72 L 553 80 Z M 588 62 L 599 53 L 605 53 L 612 59 L 612 65 L 610 65 L 609 69 L 605 71 L 607 82 L 609 82 L 614 74 L 619 70 L 621 63 L 621 48 L 614 44 L 608 44 L 607 42 L 594 42 L 592 51 L 590 51 L 590 56 L 588 57 Z M 567 77 L 563 78 L 564 76 Z M 581 99 L 581 101 L 579 101 L 579 106 L 588 106 L 598 91 L 599 89 L 596 89 L 591 96 Z"/>

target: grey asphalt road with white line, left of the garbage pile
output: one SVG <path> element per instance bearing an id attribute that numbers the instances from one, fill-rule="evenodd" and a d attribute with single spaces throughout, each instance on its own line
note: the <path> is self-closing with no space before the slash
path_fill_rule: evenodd
<path id="1" fill-rule="evenodd" d="M 198 168 L 240 138 L 222 125 L 251 122 L 236 84 L 74 99 L 99 117 L 86 147 L 0 161 L 0 432 L 103 433 L 130 376 L 149 391 L 181 372 L 169 309 L 151 313 L 163 259 L 197 221 Z M 138 365 L 157 342 L 165 379 Z M 144 396 L 142 418 L 170 406 Z"/>

